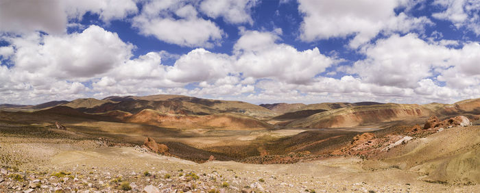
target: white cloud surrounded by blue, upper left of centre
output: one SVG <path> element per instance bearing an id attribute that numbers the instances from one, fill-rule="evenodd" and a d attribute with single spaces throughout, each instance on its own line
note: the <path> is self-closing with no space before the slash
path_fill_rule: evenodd
<path id="1" fill-rule="evenodd" d="M 143 8 L 132 25 L 145 36 L 183 47 L 213 47 L 224 34 L 215 23 L 197 16 L 193 5 L 183 1 L 151 1 Z"/>

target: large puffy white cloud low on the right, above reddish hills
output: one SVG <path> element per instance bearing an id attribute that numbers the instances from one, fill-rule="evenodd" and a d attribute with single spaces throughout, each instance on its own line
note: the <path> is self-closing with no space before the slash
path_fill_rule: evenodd
<path id="1" fill-rule="evenodd" d="M 416 34 L 393 35 L 364 48 L 365 60 L 355 62 L 348 73 L 381 86 L 415 88 L 420 79 L 431 77 L 434 67 L 448 66 L 451 51 L 424 42 Z"/>

